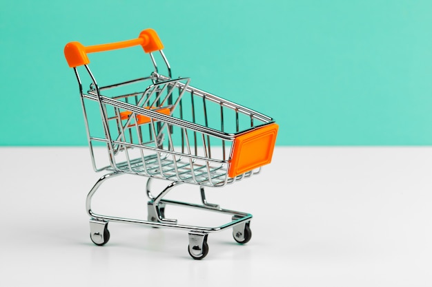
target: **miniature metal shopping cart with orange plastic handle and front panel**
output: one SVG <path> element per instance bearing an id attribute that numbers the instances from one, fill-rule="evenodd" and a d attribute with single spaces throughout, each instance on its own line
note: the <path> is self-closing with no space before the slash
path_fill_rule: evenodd
<path id="1" fill-rule="evenodd" d="M 104 86 L 97 83 L 88 66 L 88 54 L 139 45 L 153 63 L 150 76 Z M 108 222 L 179 228 L 188 231 L 190 256 L 202 259 L 208 253 L 208 233 L 233 228 L 235 241 L 244 244 L 251 240 L 252 215 L 208 203 L 204 187 L 224 187 L 259 173 L 262 165 L 271 162 L 277 124 L 264 114 L 191 87 L 189 78 L 172 78 L 163 47 L 156 32 L 148 29 L 129 41 L 91 46 L 70 42 L 64 49 L 79 83 L 93 168 L 108 172 L 87 196 L 90 238 L 97 245 L 106 244 L 110 239 Z M 167 76 L 159 74 L 158 61 L 164 62 Z M 121 76 L 121 69 L 112 70 Z M 87 92 L 84 81 L 89 84 Z M 102 167 L 95 156 L 98 145 L 108 151 Z M 99 215 L 91 209 L 92 197 L 101 184 L 125 173 L 148 178 L 148 220 Z M 153 179 L 168 182 L 157 195 L 151 191 Z M 199 186 L 202 203 L 164 198 L 184 183 Z M 179 224 L 165 217 L 170 204 L 224 213 L 232 219 L 215 227 Z"/>

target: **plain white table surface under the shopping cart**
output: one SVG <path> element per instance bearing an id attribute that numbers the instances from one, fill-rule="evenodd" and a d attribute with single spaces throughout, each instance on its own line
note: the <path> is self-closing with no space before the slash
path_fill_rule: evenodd
<path id="1" fill-rule="evenodd" d="M 0 158 L 0 286 L 432 286 L 431 147 L 277 147 L 259 176 L 208 190 L 253 214 L 253 237 L 211 233 L 201 261 L 187 231 L 110 222 L 110 242 L 92 244 L 85 199 L 103 174 L 87 148 L 3 147 Z M 146 219 L 145 183 L 108 181 L 94 210 Z M 171 195 L 199 200 L 186 184 Z"/>

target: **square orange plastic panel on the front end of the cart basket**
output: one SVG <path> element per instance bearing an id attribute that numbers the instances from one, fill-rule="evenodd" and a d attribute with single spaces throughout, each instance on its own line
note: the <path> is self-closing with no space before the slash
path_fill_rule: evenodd
<path id="1" fill-rule="evenodd" d="M 233 143 L 228 176 L 234 178 L 269 164 L 273 156 L 278 128 L 279 126 L 273 123 L 237 136 Z"/>

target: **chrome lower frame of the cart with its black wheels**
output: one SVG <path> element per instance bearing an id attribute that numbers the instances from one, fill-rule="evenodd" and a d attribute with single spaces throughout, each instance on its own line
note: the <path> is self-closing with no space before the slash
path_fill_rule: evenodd
<path id="1" fill-rule="evenodd" d="M 110 233 L 108 231 L 108 222 L 121 222 L 130 224 L 139 224 L 150 227 L 161 227 L 161 228 L 174 228 L 188 231 L 189 246 L 188 251 L 193 259 L 203 259 L 208 253 L 207 237 L 209 233 L 215 233 L 223 231 L 227 228 L 233 228 L 233 237 L 239 244 L 245 244 L 251 240 L 251 228 L 250 223 L 252 215 L 240 211 L 233 211 L 228 209 L 222 209 L 218 204 L 208 203 L 204 187 L 200 187 L 202 204 L 194 204 L 190 202 L 179 202 L 175 200 L 164 199 L 164 196 L 168 194 L 174 187 L 181 184 L 182 182 L 170 182 L 168 186 L 158 193 L 157 196 L 153 196 L 151 192 L 151 182 L 153 178 L 148 178 L 146 184 L 146 192 L 148 198 L 148 220 L 139 220 L 124 217 L 114 217 L 109 215 L 100 215 L 92 211 L 92 197 L 96 191 L 101 187 L 101 184 L 106 182 L 110 178 L 120 176 L 121 172 L 111 172 L 102 176 L 97 180 L 95 185 L 90 189 L 90 192 L 86 198 L 86 210 L 90 216 L 90 238 L 93 243 L 97 245 L 104 245 L 110 239 Z M 231 215 L 232 221 L 227 222 L 221 226 L 206 227 L 206 226 L 191 226 L 184 224 L 177 224 L 177 220 L 168 219 L 165 217 L 166 205 L 177 205 L 187 206 L 194 209 L 202 209 L 207 211 L 214 211 L 216 213 L 224 213 Z"/>

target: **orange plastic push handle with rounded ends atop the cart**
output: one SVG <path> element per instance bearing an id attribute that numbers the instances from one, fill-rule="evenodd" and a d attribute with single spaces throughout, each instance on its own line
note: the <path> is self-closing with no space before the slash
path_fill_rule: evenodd
<path id="1" fill-rule="evenodd" d="M 66 61 L 68 61 L 69 67 L 78 67 L 90 63 L 87 56 L 88 53 L 117 50 L 137 45 L 141 45 L 146 53 L 164 49 L 164 45 L 155 30 L 146 29 L 139 33 L 137 39 L 116 43 L 84 46 L 79 42 L 70 42 L 64 47 L 64 56 L 66 57 Z"/>

